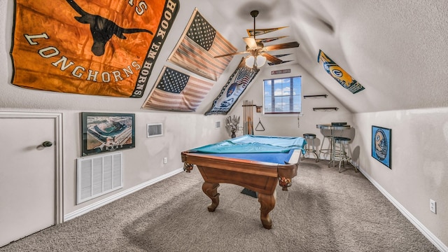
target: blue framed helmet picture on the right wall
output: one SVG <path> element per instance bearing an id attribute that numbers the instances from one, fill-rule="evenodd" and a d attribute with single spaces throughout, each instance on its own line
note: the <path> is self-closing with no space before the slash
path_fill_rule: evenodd
<path id="1" fill-rule="evenodd" d="M 372 125 L 372 157 L 389 169 L 392 169 L 391 133 L 391 129 Z"/>

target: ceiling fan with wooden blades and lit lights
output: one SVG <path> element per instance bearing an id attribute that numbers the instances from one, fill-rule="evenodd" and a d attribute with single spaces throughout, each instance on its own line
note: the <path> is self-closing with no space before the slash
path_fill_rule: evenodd
<path id="1" fill-rule="evenodd" d="M 299 43 L 296 41 L 294 42 L 288 42 L 288 43 L 281 43 L 277 45 L 267 45 L 265 46 L 263 42 L 269 42 L 274 41 L 276 38 L 262 38 L 257 39 L 255 38 L 255 35 L 257 34 L 257 30 L 255 29 L 255 18 L 258 16 L 258 10 L 252 10 L 251 16 L 253 17 L 253 32 L 249 33 L 249 37 L 243 38 L 244 42 L 246 43 L 246 50 L 241 52 L 232 52 L 225 55 L 218 55 L 217 57 L 225 57 L 230 55 L 239 55 L 248 53 L 248 57 L 246 57 L 246 66 L 252 67 L 253 69 L 258 69 L 258 67 L 265 64 L 266 60 L 269 62 L 272 62 L 272 64 L 281 64 L 283 61 L 279 59 L 278 57 L 269 55 L 267 52 L 272 50 L 281 50 L 281 49 L 287 49 L 287 48 L 296 48 L 299 46 Z M 280 27 L 279 29 L 284 28 Z M 275 29 L 274 29 L 275 30 Z M 253 36 L 251 36 L 253 34 Z M 278 38 L 284 38 L 285 36 L 281 36 Z"/>

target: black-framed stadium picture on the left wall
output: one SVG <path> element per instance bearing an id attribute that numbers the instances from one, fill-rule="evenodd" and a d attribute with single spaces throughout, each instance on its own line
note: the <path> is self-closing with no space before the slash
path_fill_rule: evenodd
<path id="1" fill-rule="evenodd" d="M 135 114 L 81 113 L 82 155 L 135 148 Z"/>

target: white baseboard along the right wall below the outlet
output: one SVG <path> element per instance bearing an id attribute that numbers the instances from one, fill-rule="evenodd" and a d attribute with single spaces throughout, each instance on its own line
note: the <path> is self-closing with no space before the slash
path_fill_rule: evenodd
<path id="1" fill-rule="evenodd" d="M 355 164 L 352 163 L 352 165 L 354 166 Z M 398 211 L 401 212 L 403 216 L 405 216 L 432 244 L 434 244 L 437 249 L 439 249 L 440 251 L 448 252 L 448 246 L 443 244 L 443 242 L 440 241 L 440 239 L 438 239 L 435 235 L 433 235 L 433 233 L 430 232 L 428 228 L 426 228 L 419 220 L 417 220 L 411 213 L 409 213 L 409 211 L 407 211 L 407 209 L 405 209 L 402 204 L 395 200 L 392 195 L 387 193 L 387 191 L 384 190 L 384 188 L 382 188 L 379 183 L 377 183 L 377 181 L 374 181 L 374 179 L 372 179 L 369 174 L 364 172 L 363 169 L 360 169 L 359 167 L 356 168 L 365 176 L 366 179 L 370 181 L 370 183 L 373 184 L 373 186 L 375 186 L 379 190 L 379 192 L 384 195 L 384 197 L 386 197 L 398 209 Z"/>

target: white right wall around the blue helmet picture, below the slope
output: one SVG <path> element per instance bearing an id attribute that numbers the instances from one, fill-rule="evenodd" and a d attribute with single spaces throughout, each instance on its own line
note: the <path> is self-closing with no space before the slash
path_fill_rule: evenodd
<path id="1" fill-rule="evenodd" d="M 390 128 L 391 169 L 371 154 L 372 125 Z M 448 107 L 356 113 L 356 164 L 443 244 L 448 244 Z M 429 200 L 437 202 L 437 214 Z M 444 246 L 446 249 L 447 246 Z"/>

